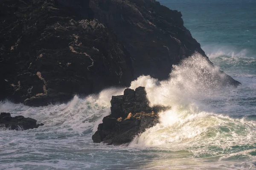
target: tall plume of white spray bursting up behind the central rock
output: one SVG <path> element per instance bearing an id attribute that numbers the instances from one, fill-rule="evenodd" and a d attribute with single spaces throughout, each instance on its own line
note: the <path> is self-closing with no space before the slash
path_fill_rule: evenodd
<path id="1" fill-rule="evenodd" d="M 190 105 L 233 88 L 222 86 L 223 81 L 224 75 L 218 67 L 195 54 L 180 65 L 174 65 L 169 79 L 158 81 L 150 76 L 141 76 L 131 82 L 130 88 L 144 86 L 151 105 Z"/>

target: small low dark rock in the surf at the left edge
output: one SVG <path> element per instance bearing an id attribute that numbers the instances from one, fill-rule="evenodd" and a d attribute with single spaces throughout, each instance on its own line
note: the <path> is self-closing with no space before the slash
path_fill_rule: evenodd
<path id="1" fill-rule="evenodd" d="M 10 113 L 0 113 L 0 127 L 9 130 L 28 130 L 38 128 L 44 124 L 36 124 L 37 120 L 23 116 L 12 117 Z"/>

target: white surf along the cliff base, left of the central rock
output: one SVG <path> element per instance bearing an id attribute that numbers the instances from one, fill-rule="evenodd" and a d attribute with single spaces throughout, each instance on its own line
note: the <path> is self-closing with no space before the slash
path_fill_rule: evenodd
<path id="1" fill-rule="evenodd" d="M 12 116 L 33 117 L 38 123 L 44 123 L 45 127 L 53 127 L 52 130 L 56 132 L 73 130 L 81 134 L 84 130 L 96 131 L 102 118 L 110 114 L 111 97 L 122 93 L 121 88 L 109 88 L 84 99 L 74 96 L 67 104 L 37 108 L 4 101 L 0 103 L 0 111 L 10 112 Z"/>

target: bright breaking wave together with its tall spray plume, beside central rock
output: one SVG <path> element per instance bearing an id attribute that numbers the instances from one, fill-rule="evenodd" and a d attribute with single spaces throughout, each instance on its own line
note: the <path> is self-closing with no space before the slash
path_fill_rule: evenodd
<path id="1" fill-rule="evenodd" d="M 225 102 L 237 95 L 237 89 L 224 88 L 214 79 L 218 73 L 218 68 L 212 68 L 195 54 L 174 66 L 166 81 L 142 76 L 132 82 L 131 88 L 145 87 L 151 105 L 166 105 L 172 109 L 159 113 L 160 123 L 134 139 L 130 147 L 191 148 L 194 155 L 201 157 L 236 152 L 232 147 L 237 144 L 253 145 L 255 122 L 216 114 L 218 108 L 211 107 L 212 101 L 216 106 L 218 100 Z"/>

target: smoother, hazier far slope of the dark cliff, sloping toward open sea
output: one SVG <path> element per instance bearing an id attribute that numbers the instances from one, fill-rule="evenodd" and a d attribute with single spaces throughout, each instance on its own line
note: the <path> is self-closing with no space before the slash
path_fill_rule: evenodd
<path id="1" fill-rule="evenodd" d="M 183 26 L 181 13 L 155 0 L 92 0 L 91 6 L 94 17 L 111 28 L 129 51 L 134 77 L 166 79 L 181 59 L 195 51 L 206 56 Z"/>

